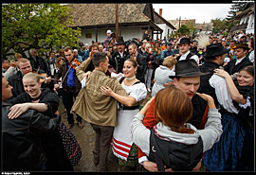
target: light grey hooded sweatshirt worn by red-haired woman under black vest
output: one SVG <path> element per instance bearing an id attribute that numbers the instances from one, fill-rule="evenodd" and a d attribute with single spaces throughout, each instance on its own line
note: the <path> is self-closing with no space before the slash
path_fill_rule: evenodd
<path id="1" fill-rule="evenodd" d="M 144 115 L 136 114 L 131 125 L 132 137 L 134 143 L 139 147 L 147 156 L 150 155 L 151 145 L 151 131 L 148 130 L 143 124 Z M 192 129 L 194 133 L 178 133 L 172 131 L 171 128 L 159 122 L 155 126 L 155 132 L 158 138 L 163 140 L 171 140 L 177 143 L 194 145 L 197 144 L 199 139 L 202 139 L 203 152 L 212 148 L 222 134 L 221 114 L 217 109 L 209 109 L 208 120 L 204 130 L 197 130 L 190 123 L 186 123 L 186 128 Z M 166 152 L 166 155 L 169 153 Z M 186 156 L 186 155 L 181 155 Z"/>

